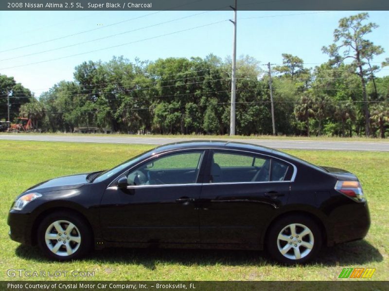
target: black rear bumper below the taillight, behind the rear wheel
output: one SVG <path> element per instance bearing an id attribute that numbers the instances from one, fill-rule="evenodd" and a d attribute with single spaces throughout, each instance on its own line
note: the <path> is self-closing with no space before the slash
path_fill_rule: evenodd
<path id="1" fill-rule="evenodd" d="M 367 202 L 347 205 L 344 211 L 331 215 L 332 239 L 328 245 L 363 239 L 370 228 L 370 212 Z"/>

